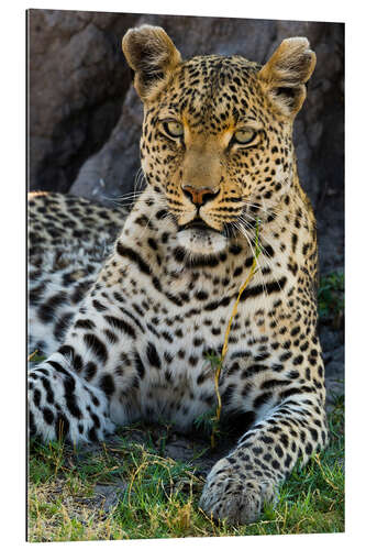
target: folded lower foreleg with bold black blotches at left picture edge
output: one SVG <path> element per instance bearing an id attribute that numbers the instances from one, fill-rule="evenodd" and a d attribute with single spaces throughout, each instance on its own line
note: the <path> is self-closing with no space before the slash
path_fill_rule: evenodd
<path id="1" fill-rule="evenodd" d="M 65 438 L 71 443 L 102 440 L 112 433 L 106 393 L 54 353 L 29 373 L 30 436 L 43 441 Z"/>

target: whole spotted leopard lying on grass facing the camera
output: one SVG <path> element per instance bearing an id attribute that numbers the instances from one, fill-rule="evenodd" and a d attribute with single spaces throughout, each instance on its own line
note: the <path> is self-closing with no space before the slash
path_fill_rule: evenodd
<path id="1" fill-rule="evenodd" d="M 297 36 L 264 65 L 184 59 L 153 25 L 122 50 L 146 187 L 131 209 L 30 197 L 29 332 L 45 355 L 29 374 L 30 435 L 81 444 L 162 418 L 189 433 L 220 398 L 240 437 L 199 506 L 252 522 L 329 438 L 317 228 L 292 141 L 317 57 Z"/>

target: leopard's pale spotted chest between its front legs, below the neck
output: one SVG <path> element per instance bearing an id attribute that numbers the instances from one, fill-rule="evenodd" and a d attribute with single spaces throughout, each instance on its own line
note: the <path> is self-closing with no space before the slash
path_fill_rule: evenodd
<path id="1" fill-rule="evenodd" d="M 136 262 L 120 262 L 120 279 L 107 282 L 100 294 L 108 312 L 101 311 L 98 318 L 99 332 L 112 329 L 112 337 L 117 337 L 108 346 L 103 366 L 114 381 L 114 421 L 162 418 L 179 428 L 190 427 L 217 404 L 214 373 L 225 341 L 220 394 L 224 397 L 229 393 L 231 398 L 228 404 L 223 399 L 223 407 L 228 411 L 239 406 L 251 410 L 264 382 L 263 369 L 257 375 L 256 364 L 265 354 L 267 363 L 270 361 L 274 329 L 269 311 L 282 293 L 281 286 L 276 283 L 268 295 L 263 290 L 264 275 L 256 274 L 251 280 L 252 294 L 237 304 L 233 315 L 249 267 L 243 268 L 240 279 L 231 275 L 236 264 L 229 270 L 223 262 L 211 271 L 182 271 L 168 280 L 154 270 L 141 273 Z M 235 262 L 245 263 L 236 256 Z"/>

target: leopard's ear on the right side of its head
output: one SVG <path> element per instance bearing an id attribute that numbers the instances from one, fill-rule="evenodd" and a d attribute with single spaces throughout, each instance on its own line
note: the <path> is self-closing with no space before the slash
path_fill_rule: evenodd
<path id="1" fill-rule="evenodd" d="M 264 91 L 282 114 L 293 118 L 301 109 L 307 95 L 304 84 L 315 63 L 308 38 L 286 38 L 259 70 L 257 76 Z"/>

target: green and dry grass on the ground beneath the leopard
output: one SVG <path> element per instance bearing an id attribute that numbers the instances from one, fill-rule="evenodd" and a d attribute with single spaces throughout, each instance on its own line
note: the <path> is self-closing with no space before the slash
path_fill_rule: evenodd
<path id="1" fill-rule="evenodd" d="M 29 466 L 29 540 L 220 537 L 342 532 L 344 530 L 344 415 L 337 398 L 330 417 L 331 442 L 309 464 L 296 468 L 280 487 L 275 508 L 259 521 L 232 527 L 215 524 L 199 508 L 204 480 L 193 461 L 163 458 L 158 444 L 136 443 L 119 431 L 113 442 L 71 449 L 59 442 L 31 444 Z M 144 428 L 146 433 L 146 427 Z M 147 435 L 148 435 L 147 429 Z M 208 441 L 209 446 L 209 441 Z M 120 487 L 106 512 L 96 484 Z"/>

